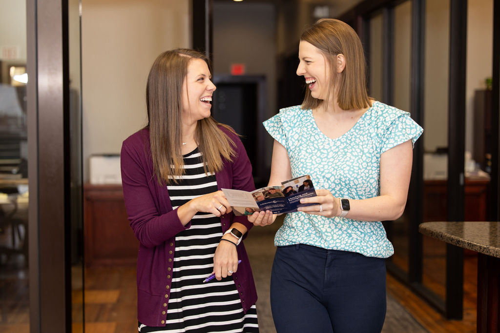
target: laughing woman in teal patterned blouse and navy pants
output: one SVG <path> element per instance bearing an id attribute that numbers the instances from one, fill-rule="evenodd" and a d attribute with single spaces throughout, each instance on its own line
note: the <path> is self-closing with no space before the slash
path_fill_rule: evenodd
<path id="1" fill-rule="evenodd" d="M 302 33 L 302 105 L 264 122 L 274 138 L 268 186 L 308 174 L 315 205 L 286 215 L 276 233 L 271 310 L 279 332 L 380 332 L 385 258 L 380 221 L 404 211 L 412 145 L 422 133 L 407 112 L 368 97 L 355 31 L 321 19 Z M 271 212 L 248 220 L 265 226 Z"/>

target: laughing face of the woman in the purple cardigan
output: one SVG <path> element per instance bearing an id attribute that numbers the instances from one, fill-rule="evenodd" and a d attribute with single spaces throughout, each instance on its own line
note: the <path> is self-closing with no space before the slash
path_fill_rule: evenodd
<path id="1" fill-rule="evenodd" d="M 212 94 L 215 85 L 210 71 L 202 59 L 192 59 L 182 85 L 182 115 L 187 123 L 210 116 Z"/>

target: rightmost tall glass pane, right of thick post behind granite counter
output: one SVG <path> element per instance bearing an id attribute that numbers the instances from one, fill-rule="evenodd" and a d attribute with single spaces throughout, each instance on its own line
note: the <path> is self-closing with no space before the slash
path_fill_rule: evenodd
<path id="1" fill-rule="evenodd" d="M 465 221 L 488 221 L 492 130 L 493 0 L 467 1 L 465 109 Z M 477 254 L 464 251 L 464 282 L 477 284 Z M 464 319 L 476 309 L 477 291 L 463 289 Z M 472 310 L 472 311 L 470 311 Z"/>

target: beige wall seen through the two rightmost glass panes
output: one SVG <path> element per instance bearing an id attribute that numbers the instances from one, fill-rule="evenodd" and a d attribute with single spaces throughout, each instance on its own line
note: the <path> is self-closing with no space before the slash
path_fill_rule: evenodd
<path id="1" fill-rule="evenodd" d="M 473 150 L 473 98 L 492 75 L 493 1 L 468 1 L 465 150 Z M 447 146 L 449 0 L 427 1 L 424 149 Z"/>

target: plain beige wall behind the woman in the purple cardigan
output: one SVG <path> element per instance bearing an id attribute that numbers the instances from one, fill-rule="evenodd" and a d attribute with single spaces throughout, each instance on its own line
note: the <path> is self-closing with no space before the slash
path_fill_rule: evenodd
<path id="1" fill-rule="evenodd" d="M 120 152 L 146 124 L 145 85 L 156 56 L 190 47 L 190 1 L 81 0 L 83 179 L 91 154 Z"/>

